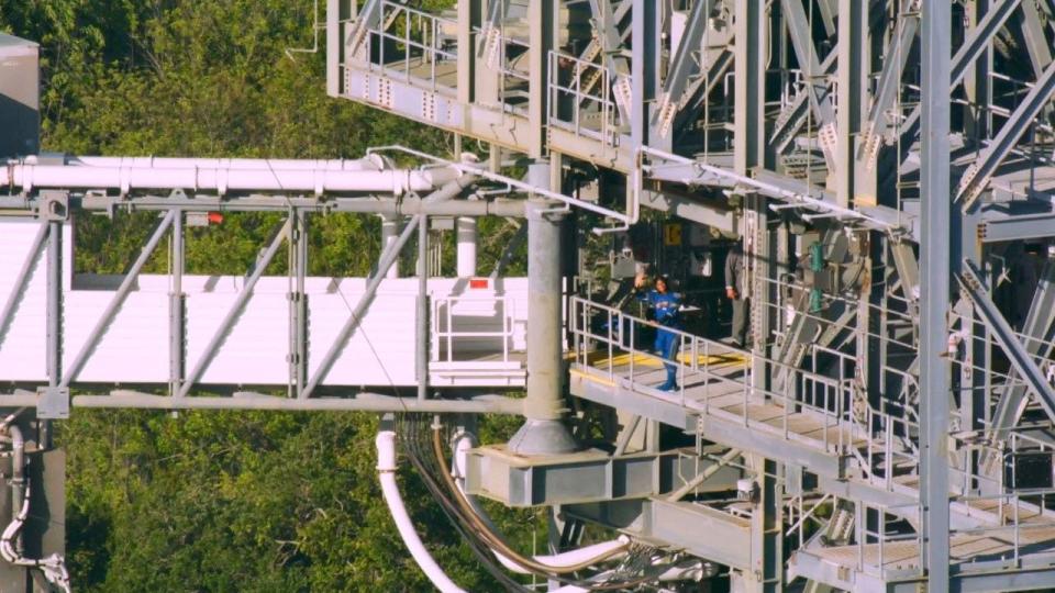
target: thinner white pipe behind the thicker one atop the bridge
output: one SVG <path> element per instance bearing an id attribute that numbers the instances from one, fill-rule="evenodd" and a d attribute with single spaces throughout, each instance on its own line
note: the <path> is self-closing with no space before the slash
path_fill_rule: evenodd
<path id="1" fill-rule="evenodd" d="M 37 157 L 25 158 L 26 165 L 40 165 Z M 293 159 L 293 158 L 170 158 L 170 157 L 101 157 L 68 156 L 66 165 L 75 167 L 119 167 L 133 169 L 253 169 L 327 171 L 380 171 L 386 163 L 377 156 L 357 159 Z"/>

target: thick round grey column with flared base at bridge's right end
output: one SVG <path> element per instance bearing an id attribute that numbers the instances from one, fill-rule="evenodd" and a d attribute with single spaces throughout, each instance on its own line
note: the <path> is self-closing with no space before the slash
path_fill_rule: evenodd
<path id="1" fill-rule="evenodd" d="M 549 165 L 528 169 L 536 187 L 549 186 Z M 526 422 L 509 441 L 521 455 L 568 452 L 577 448 L 564 424 L 564 365 L 560 339 L 560 222 L 563 209 L 542 199 L 528 201 L 528 398 Z"/>

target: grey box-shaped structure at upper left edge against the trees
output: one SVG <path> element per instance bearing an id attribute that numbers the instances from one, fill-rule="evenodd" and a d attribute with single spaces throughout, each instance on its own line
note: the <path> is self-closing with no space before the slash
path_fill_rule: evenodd
<path id="1" fill-rule="evenodd" d="M 0 158 L 40 150 L 40 46 L 0 33 Z"/>

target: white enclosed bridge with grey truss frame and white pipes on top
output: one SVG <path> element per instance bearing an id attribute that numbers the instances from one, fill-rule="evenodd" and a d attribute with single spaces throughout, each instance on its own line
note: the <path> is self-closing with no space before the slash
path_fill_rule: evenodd
<path id="1" fill-rule="evenodd" d="M 32 215 L 18 215 L 22 198 L 9 198 L 15 215 L 0 217 L 8 401 L 36 405 L 43 417 L 65 416 L 70 401 L 519 413 L 521 402 L 489 392 L 525 384 L 529 282 L 476 276 L 471 216 L 522 217 L 525 206 L 467 190 L 478 174 L 486 176 L 468 164 L 395 169 L 376 156 L 11 163 L 0 181 L 35 195 L 22 194 Z M 126 273 L 78 273 L 74 219 L 114 209 L 156 211 L 157 226 Z M 286 217 L 245 276 L 185 273 L 184 226 L 213 211 Z M 301 237 L 311 215 L 368 212 L 385 220 L 374 273 L 307 276 Z M 422 278 L 433 215 L 457 221 L 456 278 Z M 399 278 L 392 264 L 415 234 L 418 277 Z M 167 273 L 142 273 L 160 249 L 169 251 Z M 289 273 L 264 276 L 277 256 L 289 257 Z M 437 394 L 446 401 L 432 401 Z"/>

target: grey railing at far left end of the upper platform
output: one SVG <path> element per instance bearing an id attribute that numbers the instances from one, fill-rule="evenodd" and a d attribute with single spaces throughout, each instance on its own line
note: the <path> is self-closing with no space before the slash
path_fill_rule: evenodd
<path id="1" fill-rule="evenodd" d="M 380 0 L 379 25 L 367 29 L 364 49 L 370 69 L 432 91 L 454 92 L 454 80 L 441 83 L 443 63 L 457 61 L 457 40 L 449 34 L 457 21 L 430 14 L 400 2 Z M 358 23 L 358 26 L 364 26 Z"/>

